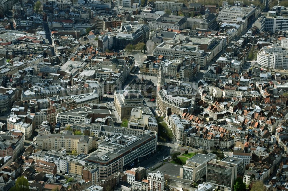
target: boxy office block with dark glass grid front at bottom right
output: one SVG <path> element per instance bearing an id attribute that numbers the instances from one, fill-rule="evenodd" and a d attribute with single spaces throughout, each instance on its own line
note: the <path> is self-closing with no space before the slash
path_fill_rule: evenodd
<path id="1" fill-rule="evenodd" d="M 232 190 L 237 178 L 237 165 L 226 161 L 211 159 L 207 162 L 206 183 L 219 190 Z"/>

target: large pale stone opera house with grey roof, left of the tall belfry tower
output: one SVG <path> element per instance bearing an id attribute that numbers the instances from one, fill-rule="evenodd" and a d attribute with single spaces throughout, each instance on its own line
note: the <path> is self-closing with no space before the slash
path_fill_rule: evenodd
<path id="1" fill-rule="evenodd" d="M 121 120 L 130 118 L 131 110 L 144 107 L 146 104 L 140 90 L 116 90 L 114 92 L 114 106 Z"/>

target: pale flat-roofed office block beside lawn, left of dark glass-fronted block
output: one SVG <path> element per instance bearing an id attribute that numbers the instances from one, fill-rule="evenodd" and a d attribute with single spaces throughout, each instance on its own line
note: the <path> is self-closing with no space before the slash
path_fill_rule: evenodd
<path id="1" fill-rule="evenodd" d="M 196 154 L 180 168 L 180 178 L 197 182 L 206 175 L 207 161 L 215 159 L 215 154 Z"/>

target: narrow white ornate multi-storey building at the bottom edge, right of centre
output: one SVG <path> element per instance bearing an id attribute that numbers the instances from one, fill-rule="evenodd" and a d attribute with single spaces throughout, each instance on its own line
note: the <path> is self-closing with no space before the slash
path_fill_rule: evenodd
<path id="1" fill-rule="evenodd" d="M 162 172 L 159 170 L 155 172 L 151 172 L 147 176 L 148 180 L 148 190 L 152 191 L 163 191 L 165 187 L 165 179 Z"/>

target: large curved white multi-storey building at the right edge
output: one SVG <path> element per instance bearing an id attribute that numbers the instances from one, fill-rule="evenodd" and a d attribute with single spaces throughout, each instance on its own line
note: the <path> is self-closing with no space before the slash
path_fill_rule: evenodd
<path id="1" fill-rule="evenodd" d="M 264 46 L 257 53 L 257 64 L 266 69 L 288 69 L 288 49 L 281 46 Z"/>

